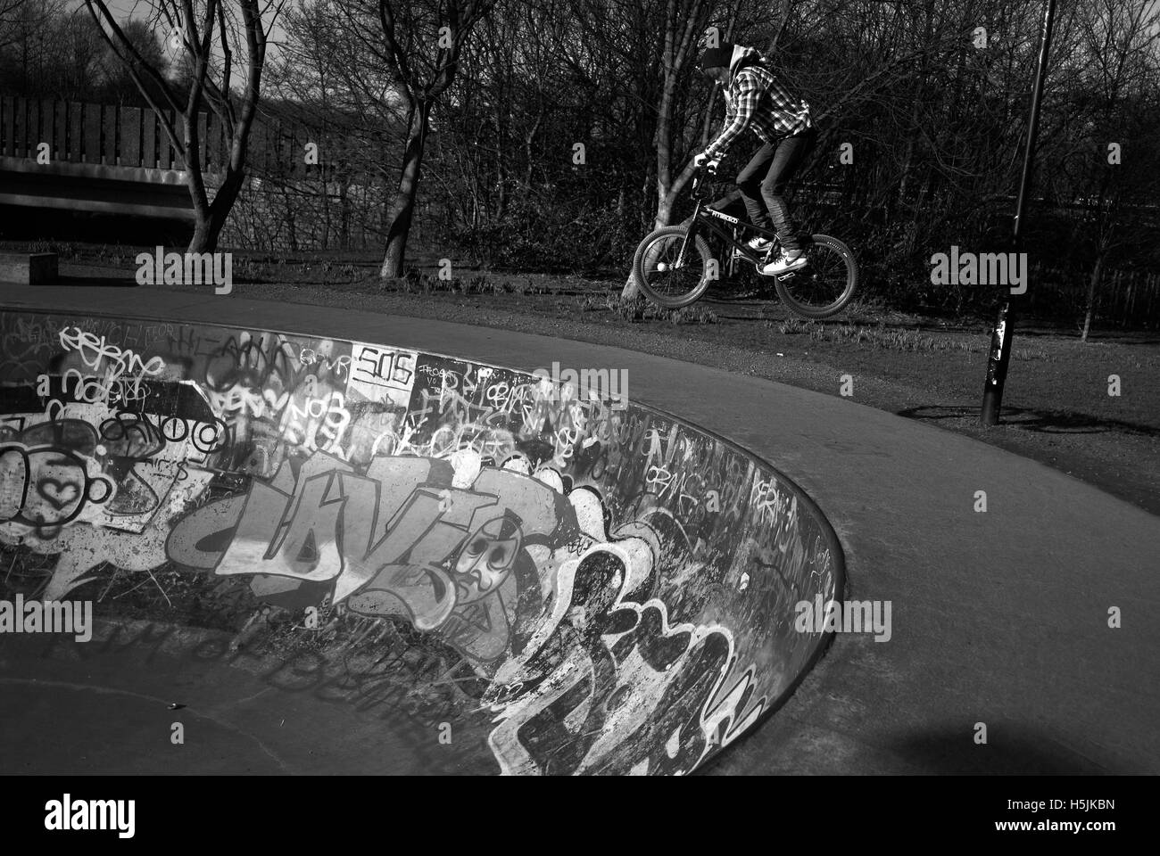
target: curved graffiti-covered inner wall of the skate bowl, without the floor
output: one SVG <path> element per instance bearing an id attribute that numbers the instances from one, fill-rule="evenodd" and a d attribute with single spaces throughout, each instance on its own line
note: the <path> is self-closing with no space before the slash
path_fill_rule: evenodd
<path id="1" fill-rule="evenodd" d="M 795 604 L 841 594 L 799 488 L 631 387 L 10 311 L 0 379 L 0 542 L 45 568 L 31 594 L 164 567 L 405 625 L 456 652 L 503 772 L 690 771 L 815 658 Z"/>

